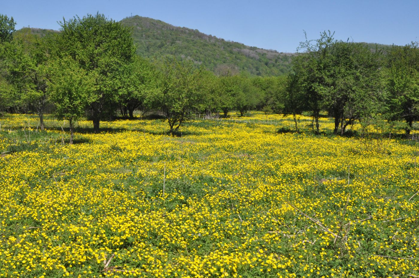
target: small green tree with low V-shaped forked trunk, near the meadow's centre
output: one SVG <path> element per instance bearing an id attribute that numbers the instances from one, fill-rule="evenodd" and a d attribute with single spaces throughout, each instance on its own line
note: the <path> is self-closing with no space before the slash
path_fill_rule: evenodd
<path id="1" fill-rule="evenodd" d="M 159 64 L 159 90 L 151 96 L 154 107 L 163 111 L 169 132 L 173 135 L 184 121 L 199 109 L 203 97 L 199 79 L 202 70 L 194 69 L 190 61 L 166 57 Z"/>

